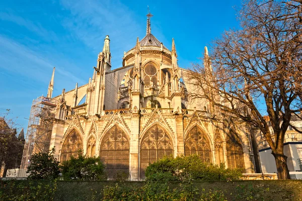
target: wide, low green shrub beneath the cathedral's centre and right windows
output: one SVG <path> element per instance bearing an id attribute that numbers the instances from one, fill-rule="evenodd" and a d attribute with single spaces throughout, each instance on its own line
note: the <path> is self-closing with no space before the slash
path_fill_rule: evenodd
<path id="1" fill-rule="evenodd" d="M 223 164 L 204 163 L 197 155 L 164 157 L 150 164 L 146 179 L 150 181 L 237 180 L 241 169 L 228 169 Z"/>

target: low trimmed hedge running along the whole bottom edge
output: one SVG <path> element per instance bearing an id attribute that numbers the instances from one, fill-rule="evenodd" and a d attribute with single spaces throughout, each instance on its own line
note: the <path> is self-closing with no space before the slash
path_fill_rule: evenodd
<path id="1" fill-rule="evenodd" d="M 62 180 L 0 181 L 0 200 L 121 199 L 302 200 L 302 180 L 194 181 L 168 183 Z"/>

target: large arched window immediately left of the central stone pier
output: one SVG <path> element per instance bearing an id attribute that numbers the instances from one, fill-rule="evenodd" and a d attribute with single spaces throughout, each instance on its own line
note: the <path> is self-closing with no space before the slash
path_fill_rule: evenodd
<path id="1" fill-rule="evenodd" d="M 114 177 L 117 171 L 129 173 L 129 140 L 118 126 L 112 127 L 103 138 L 100 157 L 109 178 Z"/>

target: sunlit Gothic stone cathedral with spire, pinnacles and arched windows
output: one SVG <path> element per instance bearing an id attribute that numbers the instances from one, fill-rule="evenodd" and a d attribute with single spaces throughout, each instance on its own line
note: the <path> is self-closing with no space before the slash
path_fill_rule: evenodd
<path id="1" fill-rule="evenodd" d="M 53 71 L 47 98 L 56 103 L 49 137 L 55 157 L 62 162 L 83 150 L 100 156 L 109 178 L 123 171 L 130 180 L 143 179 L 148 164 L 165 155 L 197 154 L 204 162 L 256 172 L 252 129 L 189 97 L 194 87 L 177 64 L 174 39 L 171 49 L 161 43 L 150 17 L 146 35 L 124 52 L 122 67 L 111 66 L 106 36 L 87 84 L 52 97 Z"/>

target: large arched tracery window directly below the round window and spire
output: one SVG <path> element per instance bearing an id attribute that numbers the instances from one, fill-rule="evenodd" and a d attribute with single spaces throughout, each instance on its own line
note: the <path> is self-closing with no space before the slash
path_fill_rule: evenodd
<path id="1" fill-rule="evenodd" d="M 173 143 L 167 132 L 160 126 L 150 128 L 141 141 L 140 176 L 145 176 L 146 167 L 163 156 L 173 156 Z"/>

